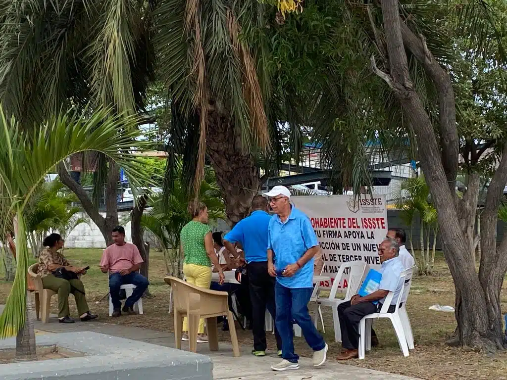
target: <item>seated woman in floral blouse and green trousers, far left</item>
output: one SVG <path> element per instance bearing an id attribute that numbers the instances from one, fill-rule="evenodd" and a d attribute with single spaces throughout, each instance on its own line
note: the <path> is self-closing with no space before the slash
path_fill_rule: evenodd
<path id="1" fill-rule="evenodd" d="M 51 289 L 58 293 L 58 322 L 60 323 L 74 323 L 74 319 L 69 317 L 70 311 L 68 310 L 68 295 L 74 294 L 76 298 L 76 305 L 78 312 L 83 322 L 91 321 L 98 316 L 90 313 L 88 303 L 86 302 L 85 286 L 79 279 L 67 281 L 62 278 L 57 278 L 53 272 L 58 268 L 65 268 L 69 272 L 84 275 L 86 271 L 84 268 L 76 268 L 69 264 L 67 259 L 58 252 L 63 247 L 64 241 L 58 234 L 51 234 L 44 239 L 43 245 L 45 248 L 39 255 L 39 270 L 38 273 L 42 277 L 42 285 L 44 289 Z"/>

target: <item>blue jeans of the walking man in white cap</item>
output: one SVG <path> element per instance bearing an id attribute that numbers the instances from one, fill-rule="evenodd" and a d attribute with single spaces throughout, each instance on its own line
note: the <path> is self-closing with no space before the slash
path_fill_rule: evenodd
<path id="1" fill-rule="evenodd" d="M 306 343 L 313 351 L 320 351 L 325 342 L 315 328 L 308 313 L 308 302 L 312 288 L 286 288 L 278 281 L 275 284 L 276 328 L 282 338 L 282 358 L 297 363 L 299 356 L 294 353 L 293 320 L 301 327 Z"/>

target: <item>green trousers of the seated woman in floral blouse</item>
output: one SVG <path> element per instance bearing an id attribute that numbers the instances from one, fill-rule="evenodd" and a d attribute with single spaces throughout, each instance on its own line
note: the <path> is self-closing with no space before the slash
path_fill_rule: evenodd
<path id="1" fill-rule="evenodd" d="M 70 284 L 72 284 L 75 289 L 71 289 Z M 85 286 L 81 280 L 67 281 L 62 278 L 57 278 L 54 275 L 48 275 L 42 278 L 42 285 L 44 289 L 51 289 L 58 293 L 58 318 L 70 316 L 70 311 L 68 310 L 68 295 L 70 293 L 73 293 L 74 298 L 76 298 L 76 305 L 78 306 L 78 313 L 80 316 L 90 311 L 88 303 L 86 302 L 86 296 L 83 294 Z M 83 293 L 76 289 L 81 290 Z"/>

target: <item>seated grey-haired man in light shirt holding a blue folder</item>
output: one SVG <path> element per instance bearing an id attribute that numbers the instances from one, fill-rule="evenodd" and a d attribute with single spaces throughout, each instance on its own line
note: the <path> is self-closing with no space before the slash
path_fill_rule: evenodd
<path id="1" fill-rule="evenodd" d="M 394 292 L 392 297 L 394 304 L 391 303 L 388 311 L 389 313 L 394 312 L 395 300 L 403 285 L 400 276 L 405 270 L 403 262 L 398 257 L 399 253 L 400 246 L 395 240 L 384 240 L 379 247 L 380 262 L 382 263 L 380 271 L 370 270 L 359 294 L 338 306 L 342 347 L 345 351 L 338 355 L 337 360 L 357 358 L 359 322 L 364 316 L 377 313 L 382 308 L 383 301 L 390 291 Z"/>

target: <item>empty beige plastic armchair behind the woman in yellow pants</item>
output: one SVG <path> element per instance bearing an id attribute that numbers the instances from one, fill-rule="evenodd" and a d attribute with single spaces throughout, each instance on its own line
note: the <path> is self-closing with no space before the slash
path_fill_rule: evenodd
<path id="1" fill-rule="evenodd" d="M 208 332 L 209 350 L 219 350 L 218 328 L 216 326 L 216 317 L 226 316 L 231 323 L 229 329 L 231 332 L 232 351 L 234 357 L 239 357 L 238 337 L 236 327 L 234 326 L 234 317 L 229 311 L 228 294 L 199 288 L 189 284 L 176 277 L 167 276 L 164 281 L 171 285 L 172 299 L 174 302 L 174 339 L 176 348 L 182 348 L 182 330 L 183 318 L 187 317 L 189 321 L 189 344 L 190 351 L 197 352 L 197 330 L 199 328 L 199 319 L 206 319 L 206 328 Z"/>

